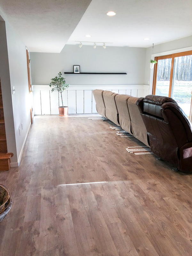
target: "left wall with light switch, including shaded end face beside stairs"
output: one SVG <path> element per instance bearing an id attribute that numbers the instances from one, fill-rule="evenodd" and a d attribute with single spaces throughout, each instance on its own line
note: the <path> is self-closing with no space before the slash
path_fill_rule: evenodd
<path id="1" fill-rule="evenodd" d="M 6 20 L 5 29 L 6 45 L 4 45 L 4 49 L 6 48 L 7 53 L 4 54 L 4 59 L 1 59 L 1 66 L 5 65 L 5 63 L 7 66 L 6 75 L 1 71 L 3 79 L 2 94 L 5 109 L 5 129 L 8 151 L 14 154 L 11 158 L 11 163 L 19 163 L 23 145 L 31 124 L 30 102 L 32 100 L 30 99 L 28 90 L 26 46 Z M 4 50 L 1 44 L 0 49 L 1 51 Z M 12 86 L 15 87 L 15 94 L 12 94 Z M 23 129 L 21 124 L 23 124 Z M 16 144 L 16 152 L 12 148 L 14 143 Z"/>

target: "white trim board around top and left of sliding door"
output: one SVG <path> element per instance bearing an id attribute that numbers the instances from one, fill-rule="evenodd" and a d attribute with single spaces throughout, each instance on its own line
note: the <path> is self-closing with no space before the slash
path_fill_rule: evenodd
<path id="1" fill-rule="evenodd" d="M 187 51 L 192 51 L 192 46 L 175 49 L 171 51 L 166 51 L 166 52 L 154 53 L 154 54 L 151 54 L 151 59 L 154 60 L 155 57 L 169 55 L 169 54 L 178 53 L 178 52 L 187 52 Z M 153 91 L 153 73 L 154 73 L 154 68 L 150 69 L 149 94 L 152 94 L 152 91 Z"/>

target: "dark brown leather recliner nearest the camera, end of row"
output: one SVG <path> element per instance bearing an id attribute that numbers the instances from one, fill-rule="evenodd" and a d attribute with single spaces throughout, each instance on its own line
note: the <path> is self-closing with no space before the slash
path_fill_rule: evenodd
<path id="1" fill-rule="evenodd" d="M 182 172 L 192 172 L 192 126 L 172 98 L 148 95 L 137 105 L 152 152 Z"/>

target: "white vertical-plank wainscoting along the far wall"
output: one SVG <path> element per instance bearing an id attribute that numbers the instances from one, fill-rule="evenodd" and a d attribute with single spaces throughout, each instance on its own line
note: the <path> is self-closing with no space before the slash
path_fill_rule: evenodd
<path id="1" fill-rule="evenodd" d="M 33 85 L 34 115 L 59 114 L 61 97 L 51 92 L 49 85 Z M 70 85 L 63 92 L 63 104 L 69 107 L 69 114 L 97 113 L 93 90 L 108 90 L 134 97 L 145 97 L 149 85 Z"/>

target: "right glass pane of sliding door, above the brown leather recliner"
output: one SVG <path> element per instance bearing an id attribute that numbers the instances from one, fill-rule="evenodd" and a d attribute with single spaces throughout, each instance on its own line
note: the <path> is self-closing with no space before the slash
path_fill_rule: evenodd
<path id="1" fill-rule="evenodd" d="M 172 98 L 177 101 L 189 118 L 192 91 L 192 55 L 174 60 Z"/>

